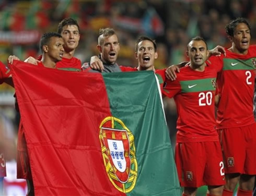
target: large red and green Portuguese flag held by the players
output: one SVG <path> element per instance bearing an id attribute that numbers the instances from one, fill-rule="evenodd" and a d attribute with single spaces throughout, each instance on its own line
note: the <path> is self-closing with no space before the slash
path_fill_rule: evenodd
<path id="1" fill-rule="evenodd" d="M 36 195 L 181 195 L 154 72 L 11 71 Z"/>

